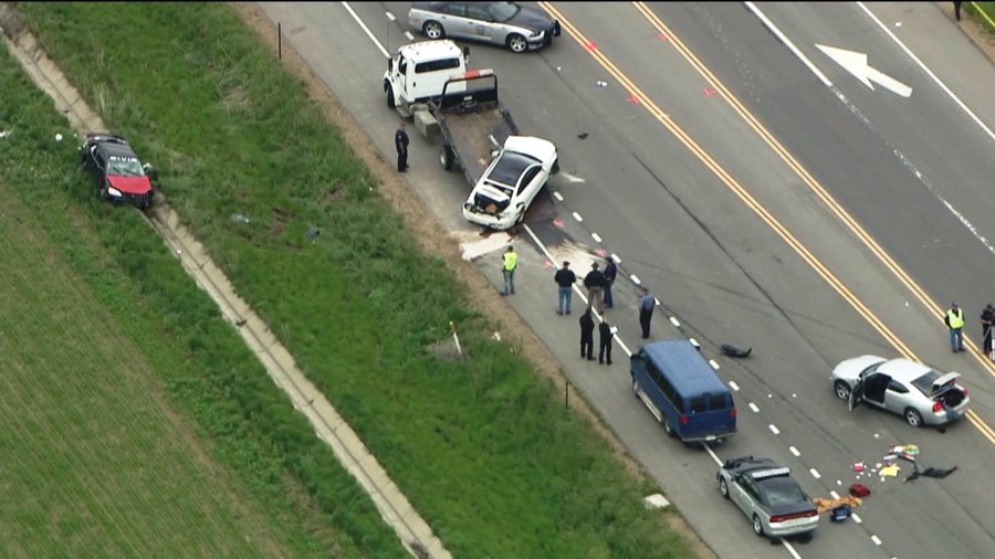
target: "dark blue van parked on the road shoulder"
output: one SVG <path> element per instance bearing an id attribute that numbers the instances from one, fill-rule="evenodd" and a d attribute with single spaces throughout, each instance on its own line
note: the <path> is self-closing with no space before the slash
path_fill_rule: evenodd
<path id="1" fill-rule="evenodd" d="M 647 344 L 632 356 L 629 371 L 636 397 L 668 435 L 718 442 L 736 432 L 732 393 L 690 341 Z"/>

